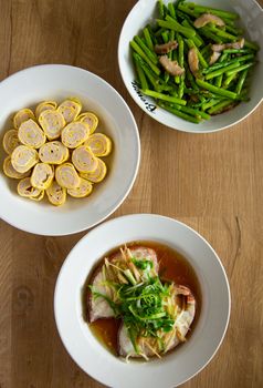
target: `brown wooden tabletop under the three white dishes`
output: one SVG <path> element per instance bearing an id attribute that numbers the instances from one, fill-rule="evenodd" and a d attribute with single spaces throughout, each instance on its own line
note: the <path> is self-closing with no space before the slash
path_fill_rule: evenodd
<path id="1" fill-rule="evenodd" d="M 182 387 L 262 387 L 263 106 L 231 130 L 203 135 L 149 119 L 128 95 L 117 64 L 118 35 L 135 2 L 0 0 L 0 79 L 33 64 L 67 63 L 120 92 L 143 152 L 135 186 L 112 217 L 159 213 L 185 222 L 212 244 L 231 285 L 225 339 Z M 41 237 L 0 222 L 1 388 L 102 387 L 66 354 L 53 317 L 56 276 L 83 235 Z"/>

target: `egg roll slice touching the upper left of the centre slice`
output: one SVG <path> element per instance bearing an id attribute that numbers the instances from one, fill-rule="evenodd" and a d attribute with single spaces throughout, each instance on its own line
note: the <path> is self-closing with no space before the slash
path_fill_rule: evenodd
<path id="1" fill-rule="evenodd" d="M 19 126 L 18 136 L 22 144 L 32 146 L 33 149 L 41 147 L 46 141 L 43 130 L 32 119 L 24 121 Z"/>

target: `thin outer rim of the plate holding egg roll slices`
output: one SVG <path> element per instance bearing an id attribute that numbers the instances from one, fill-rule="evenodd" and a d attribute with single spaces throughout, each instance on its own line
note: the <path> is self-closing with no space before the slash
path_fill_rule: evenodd
<path id="1" fill-rule="evenodd" d="M 127 110 L 127 113 L 129 114 L 129 116 L 130 116 L 130 119 L 132 119 L 132 121 L 134 123 L 135 134 L 136 134 L 136 142 L 137 142 L 137 149 L 138 149 L 138 157 L 137 157 L 136 167 L 135 167 L 135 171 L 134 171 L 134 174 L 133 174 L 133 180 L 130 181 L 130 184 L 127 187 L 126 193 L 125 193 L 124 197 L 122 198 L 122 201 L 118 204 L 116 204 L 116 206 L 114 206 L 107 215 L 105 215 L 104 217 L 101 217 L 96 223 L 93 223 L 93 225 L 90 225 L 87 227 L 76 228 L 75 231 L 63 233 L 63 234 L 60 234 L 60 233 L 57 233 L 57 234 L 53 233 L 52 234 L 52 236 L 67 236 L 67 235 L 80 233 L 80 232 L 83 232 L 83 231 L 86 231 L 86 229 L 90 229 L 90 228 L 96 226 L 97 224 L 102 223 L 107 217 L 109 217 L 124 203 L 124 201 L 129 195 L 129 193 L 130 193 L 130 191 L 132 191 L 132 188 L 134 186 L 134 183 L 136 181 L 137 174 L 138 174 L 139 164 L 140 164 L 140 139 L 139 139 L 139 131 L 138 131 L 138 126 L 137 126 L 137 123 L 135 121 L 134 114 L 133 114 L 132 110 L 129 109 L 128 104 L 126 103 L 126 101 L 123 99 L 123 96 L 107 81 L 105 81 L 104 79 L 102 79 L 101 76 L 94 74 L 93 72 L 91 72 L 88 70 L 85 70 L 85 69 L 82 69 L 82 68 L 77 68 L 77 67 L 72 67 L 72 65 L 69 65 L 69 64 L 59 64 L 59 63 L 33 65 L 33 67 L 20 70 L 18 72 L 7 76 L 4 80 L 2 80 L 0 82 L 0 89 L 1 89 L 2 84 L 8 83 L 10 79 L 15 79 L 17 76 L 20 76 L 20 74 L 27 75 L 27 73 L 30 72 L 33 69 L 49 69 L 49 68 L 56 68 L 56 69 L 63 68 L 63 69 L 71 69 L 71 70 L 81 71 L 81 72 L 84 72 L 84 73 L 90 73 L 92 76 L 96 78 L 99 82 L 102 82 L 105 85 L 107 85 L 112 90 L 112 92 L 115 93 L 117 95 L 117 98 L 122 101 L 122 103 L 125 105 L 125 108 Z M 2 214 L 0 214 L 0 218 L 3 219 L 9 225 L 11 225 L 11 226 L 13 226 L 13 227 L 15 227 L 15 228 L 18 228 L 20 231 L 28 232 L 28 233 L 35 234 L 35 235 L 40 235 L 40 236 L 51 236 L 51 234 L 49 234 L 49 233 L 35 233 L 35 231 L 33 228 L 28 227 L 27 225 L 23 228 L 21 228 L 20 226 L 18 226 L 15 224 L 15 222 L 12 222 L 12 221 L 10 222 L 8 218 L 2 216 Z"/>

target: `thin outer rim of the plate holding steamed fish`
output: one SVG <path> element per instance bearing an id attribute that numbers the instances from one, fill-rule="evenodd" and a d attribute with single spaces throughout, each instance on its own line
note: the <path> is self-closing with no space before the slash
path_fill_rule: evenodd
<path id="1" fill-rule="evenodd" d="M 63 344 L 63 346 L 65 347 L 69 356 L 73 359 L 73 361 L 88 376 L 91 376 L 92 378 L 94 378 L 96 381 L 101 382 L 101 384 L 106 384 L 105 380 L 103 379 L 99 379 L 99 377 L 97 377 L 95 374 L 87 374 L 87 371 L 81 366 L 81 363 L 78 363 L 75 358 L 72 357 L 70 350 L 69 350 L 69 347 L 66 345 L 66 341 L 64 340 L 63 338 L 63 335 L 62 335 L 62 328 L 60 326 L 60 323 L 59 323 L 59 316 L 57 316 L 57 305 L 59 305 L 59 283 L 63 276 L 63 272 L 64 272 L 64 268 L 67 266 L 67 262 L 72 255 L 72 253 L 74 251 L 77 249 L 77 247 L 83 244 L 83 242 L 85 241 L 85 238 L 87 238 L 87 236 L 91 236 L 93 234 L 96 234 L 98 233 L 101 229 L 103 229 L 105 226 L 107 226 L 108 224 L 114 224 L 114 223 L 118 223 L 118 222 L 122 222 L 123 219 L 129 219 L 129 218 L 136 218 L 136 217 L 149 217 L 149 218 L 160 218 L 160 219 L 166 219 L 168 222 L 171 222 L 171 223 L 176 223 L 176 224 L 179 224 L 181 225 L 182 227 L 187 228 L 188 231 L 190 231 L 191 233 L 193 233 L 196 236 L 198 236 L 210 249 L 211 252 L 213 253 L 221 270 L 222 270 L 222 276 L 224 278 L 224 282 L 225 282 L 225 286 L 227 286 L 227 293 L 228 293 L 228 314 L 227 314 L 227 320 L 225 320 L 225 325 L 224 325 L 224 329 L 223 329 L 223 333 L 221 335 L 221 338 L 220 340 L 218 341 L 218 345 L 215 346 L 213 353 L 209 356 L 208 360 L 204 363 L 204 365 L 199 369 L 197 370 L 196 372 L 193 372 L 191 376 L 189 376 L 187 379 L 183 379 L 182 381 L 180 381 L 179 384 L 177 384 L 176 387 L 178 387 L 179 385 L 181 384 L 185 384 L 187 381 L 189 381 L 190 379 L 192 379 L 194 376 L 197 376 L 199 372 L 201 372 L 210 363 L 211 360 L 213 359 L 213 357 L 215 356 L 215 354 L 218 353 L 220 346 L 222 345 L 223 343 L 223 339 L 224 339 L 224 336 L 227 334 L 227 330 L 228 330 L 228 327 L 229 327 L 229 321 L 230 321 L 230 315 L 231 315 L 231 292 L 230 292 L 230 285 L 229 285 L 229 279 L 228 279 L 228 276 L 227 276 L 227 273 L 225 273 L 225 269 L 223 267 L 223 264 L 220 259 L 220 257 L 218 256 L 217 252 L 213 249 L 213 247 L 210 245 L 210 243 L 201 235 L 199 234 L 197 231 L 194 231 L 191 226 L 188 226 L 187 224 L 185 224 L 183 222 L 181 221 L 178 221 L 176 218 L 171 218 L 171 217 L 168 217 L 168 216 L 164 216 L 164 215 L 160 215 L 160 214 L 150 214 L 150 213 L 137 213 L 137 214 L 127 214 L 127 215 L 123 215 L 120 217 L 116 217 L 116 218 L 113 218 L 113 219 L 108 219 L 106 222 L 104 222 L 103 224 L 101 225 L 97 225 L 95 228 L 93 228 L 92 231 L 88 231 L 85 236 L 83 236 L 74 246 L 73 248 L 70 251 L 70 253 L 67 254 L 67 256 L 65 257 L 62 266 L 61 266 L 61 269 L 60 269 L 60 273 L 59 273 L 59 276 L 56 278 L 56 283 L 55 283 L 55 288 L 54 288 L 54 304 L 53 304 L 53 307 L 54 307 L 54 318 L 55 318 L 55 324 L 56 324 L 56 329 L 57 329 L 57 333 L 60 335 L 60 338 L 61 338 L 61 341 Z M 87 274 L 88 275 L 88 274 Z M 109 387 L 109 386 L 107 386 Z M 173 388 L 173 387 L 170 387 L 170 388 Z"/>

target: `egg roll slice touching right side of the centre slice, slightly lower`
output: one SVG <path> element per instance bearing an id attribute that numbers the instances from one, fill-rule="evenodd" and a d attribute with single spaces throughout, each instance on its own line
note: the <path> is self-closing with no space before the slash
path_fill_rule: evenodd
<path id="1" fill-rule="evenodd" d="M 73 151 L 72 163 L 77 171 L 82 173 L 90 173 L 96 170 L 98 159 L 94 156 L 88 146 L 81 145 Z"/>

